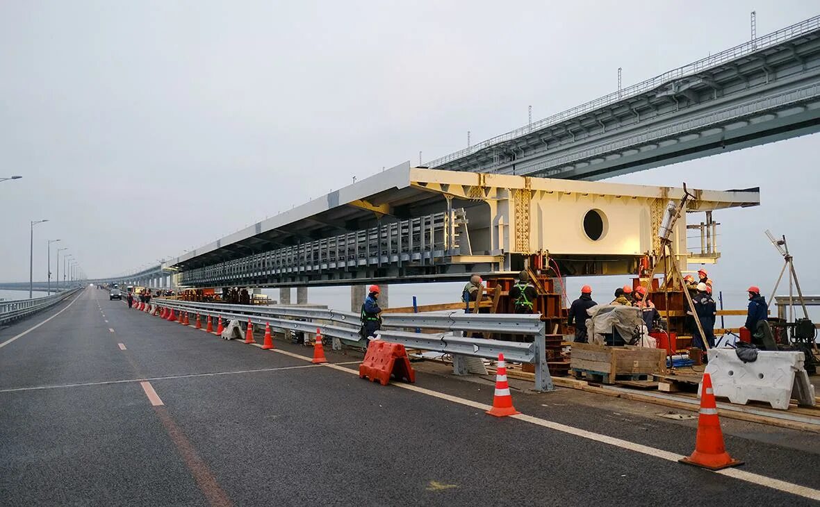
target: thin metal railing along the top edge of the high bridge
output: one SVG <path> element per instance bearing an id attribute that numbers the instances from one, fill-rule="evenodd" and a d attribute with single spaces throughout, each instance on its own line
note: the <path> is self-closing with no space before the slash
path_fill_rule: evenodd
<path id="1" fill-rule="evenodd" d="M 519 129 L 512 130 L 511 132 L 508 132 L 506 134 L 498 135 L 494 138 L 482 141 L 481 143 L 474 144 L 471 147 L 459 150 L 458 152 L 453 152 L 449 155 L 442 156 L 440 158 L 435 159 L 434 161 L 427 162 L 426 166 L 435 168 L 438 165 L 444 165 L 448 162 L 458 160 L 459 158 L 462 158 L 464 156 L 480 152 L 481 150 L 488 147 L 492 147 L 496 144 L 511 141 L 512 139 L 519 138 L 525 134 L 530 134 L 535 130 L 544 129 L 553 124 L 558 124 L 564 120 L 569 120 L 578 115 L 594 111 L 596 109 L 599 109 L 600 107 L 609 106 L 616 102 L 621 102 L 626 98 L 635 97 L 636 95 L 640 95 L 640 93 L 651 91 L 655 88 L 662 86 L 663 84 L 667 84 L 672 79 L 680 79 L 690 75 L 697 75 L 699 72 L 703 72 L 704 70 L 708 70 L 715 66 L 722 65 L 727 61 L 733 61 L 740 57 L 750 55 L 754 52 L 758 52 L 766 48 L 771 48 L 772 46 L 784 43 L 792 38 L 797 38 L 801 35 L 809 34 L 817 29 L 820 29 L 820 16 L 814 16 L 812 18 L 809 18 L 808 20 L 800 21 L 799 23 L 795 23 L 795 25 L 787 26 L 784 29 L 779 29 L 776 32 L 773 32 L 772 34 L 763 35 L 762 37 L 758 37 L 754 40 L 750 40 L 749 42 L 742 43 L 738 46 L 735 46 L 734 48 L 729 48 L 722 52 L 715 53 L 709 57 L 702 58 L 698 61 L 690 63 L 686 66 L 678 67 L 674 70 L 669 70 L 668 72 L 664 72 L 662 75 L 657 75 L 654 78 L 647 79 L 638 84 L 633 84 L 629 87 L 622 88 L 617 92 L 608 93 L 607 95 L 604 95 L 604 97 L 599 97 L 590 102 L 585 102 L 584 104 L 581 104 L 581 106 L 575 106 L 571 109 L 567 109 L 566 111 L 561 111 L 555 115 L 544 118 L 544 120 L 535 121 L 532 124 L 528 124 Z"/>

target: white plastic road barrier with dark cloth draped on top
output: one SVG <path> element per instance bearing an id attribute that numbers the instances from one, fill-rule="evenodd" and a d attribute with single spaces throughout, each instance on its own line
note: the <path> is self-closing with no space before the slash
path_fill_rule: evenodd
<path id="1" fill-rule="evenodd" d="M 814 405 L 814 387 L 804 369 L 803 352 L 758 351 L 758 360 L 744 363 L 735 349 L 721 348 L 710 349 L 708 360 L 705 373 L 712 378 L 715 396 L 738 405 L 764 401 L 779 410 L 788 409 L 792 397 L 800 405 Z"/>

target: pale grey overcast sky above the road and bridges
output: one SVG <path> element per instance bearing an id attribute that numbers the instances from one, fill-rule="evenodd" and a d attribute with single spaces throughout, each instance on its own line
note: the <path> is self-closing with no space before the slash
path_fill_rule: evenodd
<path id="1" fill-rule="evenodd" d="M 0 280 L 61 238 L 89 277 L 180 255 L 818 14 L 778 2 L 0 2 Z M 785 233 L 807 292 L 820 137 L 614 181 L 760 186 L 716 215 L 724 287 L 768 286 Z M 53 260 L 53 259 L 52 259 Z M 61 263 L 62 264 L 62 263 Z M 61 265 L 62 269 L 62 265 Z"/>

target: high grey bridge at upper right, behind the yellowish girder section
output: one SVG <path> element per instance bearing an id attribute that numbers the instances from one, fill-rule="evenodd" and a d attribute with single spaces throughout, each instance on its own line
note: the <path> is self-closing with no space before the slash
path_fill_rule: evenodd
<path id="1" fill-rule="evenodd" d="M 605 179 L 820 129 L 820 16 L 429 161 Z"/>

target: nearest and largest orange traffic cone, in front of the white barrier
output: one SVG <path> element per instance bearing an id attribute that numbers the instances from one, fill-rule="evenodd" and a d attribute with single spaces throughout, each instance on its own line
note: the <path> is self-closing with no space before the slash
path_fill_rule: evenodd
<path id="1" fill-rule="evenodd" d="M 732 459 L 726 451 L 726 446 L 723 445 L 723 432 L 720 429 L 720 419 L 717 419 L 712 377 L 708 373 L 704 373 L 704 383 L 700 394 L 700 415 L 698 436 L 695 437 L 695 452 L 679 461 L 709 470 L 726 469 L 743 464 L 742 461 Z"/>

